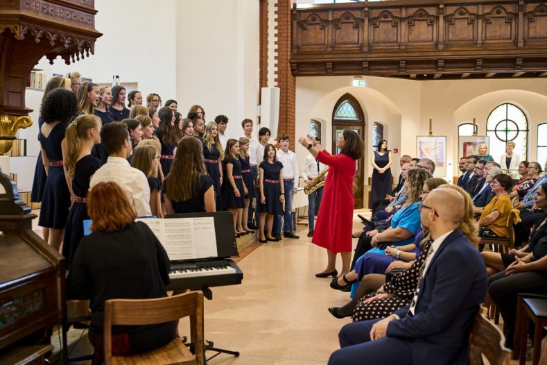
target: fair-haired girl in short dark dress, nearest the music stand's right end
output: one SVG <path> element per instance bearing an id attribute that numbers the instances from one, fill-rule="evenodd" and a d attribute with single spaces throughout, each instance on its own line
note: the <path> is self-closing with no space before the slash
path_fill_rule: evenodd
<path id="1" fill-rule="evenodd" d="M 226 142 L 224 151 L 224 170 L 226 171 L 226 183 L 223 186 L 223 208 L 234 214 L 234 229 L 236 237 L 247 235 L 248 232 L 241 228 L 241 214 L 245 207 L 245 194 L 248 194 L 247 187 L 241 175 L 241 162 L 238 159 L 239 142 L 230 138 Z"/>

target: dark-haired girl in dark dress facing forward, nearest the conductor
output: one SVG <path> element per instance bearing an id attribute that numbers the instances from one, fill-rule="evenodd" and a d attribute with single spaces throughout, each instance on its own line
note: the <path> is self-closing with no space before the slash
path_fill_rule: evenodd
<path id="1" fill-rule="evenodd" d="M 275 147 L 269 143 L 264 147 L 264 160 L 259 164 L 259 180 L 259 241 L 266 244 L 267 241 L 279 241 L 279 239 L 272 237 L 273 219 L 275 216 L 283 214 L 283 202 L 285 201 L 283 164 L 277 161 Z M 268 216 L 268 232 L 264 237 L 266 215 Z"/>

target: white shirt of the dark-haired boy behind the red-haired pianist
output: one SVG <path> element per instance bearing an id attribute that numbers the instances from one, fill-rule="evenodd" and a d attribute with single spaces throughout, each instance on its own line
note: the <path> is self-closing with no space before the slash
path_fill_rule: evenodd
<path id="1" fill-rule="evenodd" d="M 121 186 L 133 204 L 137 217 L 152 215 L 150 210 L 150 187 L 142 171 L 131 167 L 125 158 L 110 156 L 103 166 L 95 171 L 89 188 L 99 182 L 112 181 Z"/>

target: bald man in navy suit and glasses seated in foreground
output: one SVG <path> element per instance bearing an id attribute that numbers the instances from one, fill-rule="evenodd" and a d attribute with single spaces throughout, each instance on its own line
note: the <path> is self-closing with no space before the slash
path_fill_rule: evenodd
<path id="1" fill-rule="evenodd" d="M 464 200 L 454 189 L 435 189 L 418 206 L 434 241 L 412 303 L 382 320 L 345 325 L 342 348 L 329 365 L 469 363 L 469 333 L 486 297 L 487 274 L 458 228 Z"/>

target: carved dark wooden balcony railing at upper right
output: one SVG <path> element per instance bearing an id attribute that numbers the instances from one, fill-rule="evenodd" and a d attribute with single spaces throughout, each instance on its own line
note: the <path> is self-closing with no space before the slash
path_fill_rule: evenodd
<path id="1" fill-rule="evenodd" d="M 397 0 L 293 8 L 295 76 L 547 76 L 547 1 Z"/>

